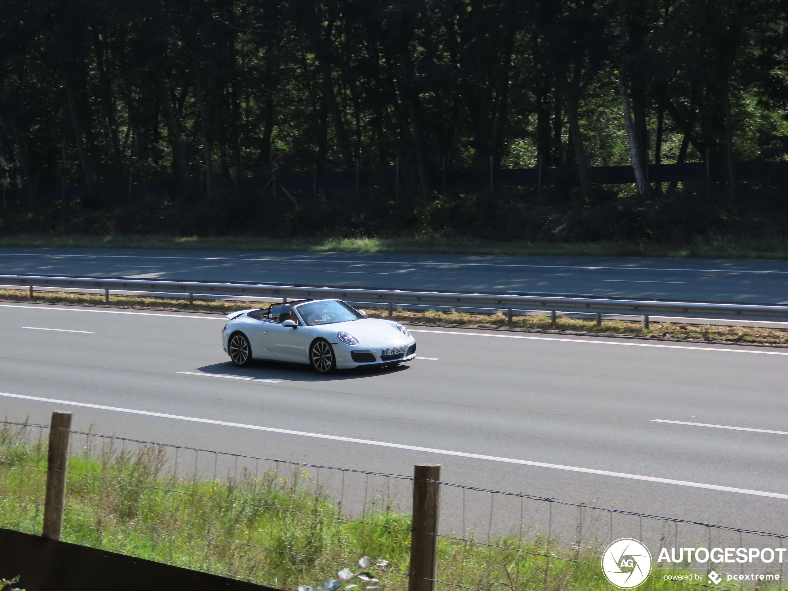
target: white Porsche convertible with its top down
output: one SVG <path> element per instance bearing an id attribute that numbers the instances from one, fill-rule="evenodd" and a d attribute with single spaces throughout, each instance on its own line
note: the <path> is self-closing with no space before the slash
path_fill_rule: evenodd
<path id="1" fill-rule="evenodd" d="M 302 299 L 227 314 L 222 345 L 236 366 L 252 359 L 310 364 L 320 374 L 392 366 L 416 356 L 399 322 L 366 318 L 340 299 Z"/>

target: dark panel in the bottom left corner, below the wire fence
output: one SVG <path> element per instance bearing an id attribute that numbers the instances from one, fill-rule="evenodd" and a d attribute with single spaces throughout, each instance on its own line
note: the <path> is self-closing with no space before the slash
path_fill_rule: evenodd
<path id="1" fill-rule="evenodd" d="M 277 591 L 0 528 L 0 578 L 25 591 Z"/>

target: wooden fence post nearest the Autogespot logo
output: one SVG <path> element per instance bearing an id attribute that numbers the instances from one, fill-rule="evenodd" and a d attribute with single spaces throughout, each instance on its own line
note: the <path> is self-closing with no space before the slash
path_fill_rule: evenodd
<path id="1" fill-rule="evenodd" d="M 413 470 L 413 525 L 408 591 L 435 591 L 440 515 L 440 464 L 416 464 Z"/>

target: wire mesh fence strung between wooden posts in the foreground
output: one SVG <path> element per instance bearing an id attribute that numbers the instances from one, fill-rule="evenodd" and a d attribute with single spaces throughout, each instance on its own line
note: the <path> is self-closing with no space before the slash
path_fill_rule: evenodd
<path id="1" fill-rule="evenodd" d="M 0 427 L 2 526 L 39 533 L 49 427 Z M 361 573 L 367 580 L 352 583 L 362 589 L 377 589 L 377 579 L 388 589 L 408 586 L 411 476 L 76 431 L 69 445 L 64 541 L 285 589 L 342 582 L 337 573 Z M 607 589 L 601 552 L 622 537 L 652 551 L 654 585 L 681 576 L 677 584 L 742 589 L 738 575 L 769 573 L 779 577 L 754 585 L 782 589 L 788 552 L 776 533 L 442 481 L 439 488 L 437 589 Z M 748 561 L 725 553 L 738 548 Z M 362 556 L 369 567 L 359 567 Z M 719 584 L 709 581 L 712 571 Z"/>

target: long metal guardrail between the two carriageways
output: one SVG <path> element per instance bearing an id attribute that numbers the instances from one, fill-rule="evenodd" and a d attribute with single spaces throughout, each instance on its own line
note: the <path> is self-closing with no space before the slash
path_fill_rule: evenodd
<path id="1" fill-rule="evenodd" d="M 110 292 L 151 292 L 188 296 L 249 296 L 270 299 L 337 298 L 351 303 L 392 307 L 450 307 L 504 310 L 543 310 L 584 314 L 649 315 L 677 318 L 712 318 L 719 320 L 788 321 L 788 306 L 761 306 L 740 303 L 702 303 L 663 300 L 608 299 L 581 296 L 519 296 L 515 294 L 467 292 L 417 292 L 390 289 L 315 287 L 287 284 L 253 284 L 243 282 L 151 281 L 147 279 L 105 279 L 99 277 L 49 277 L 35 275 L 0 275 L 0 285 L 33 288 L 59 288 L 68 291 L 99 289 L 109 299 Z M 597 319 L 599 317 L 597 316 Z"/>

